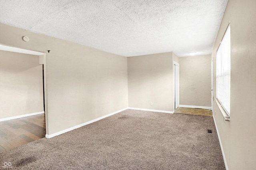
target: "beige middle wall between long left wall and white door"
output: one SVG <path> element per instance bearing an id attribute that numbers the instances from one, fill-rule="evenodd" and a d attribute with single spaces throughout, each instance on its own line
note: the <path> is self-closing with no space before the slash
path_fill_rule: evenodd
<path id="1" fill-rule="evenodd" d="M 128 106 L 173 111 L 172 52 L 128 57 Z"/>

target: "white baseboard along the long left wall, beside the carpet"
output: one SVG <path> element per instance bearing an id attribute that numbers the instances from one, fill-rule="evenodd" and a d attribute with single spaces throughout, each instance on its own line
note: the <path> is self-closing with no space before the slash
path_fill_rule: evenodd
<path id="1" fill-rule="evenodd" d="M 63 130 L 63 131 L 59 131 L 59 132 L 53 133 L 53 134 L 51 134 L 51 135 L 46 134 L 45 137 L 46 137 L 46 138 L 52 138 L 52 137 L 58 136 L 58 135 L 60 135 L 60 134 L 62 134 L 62 133 L 66 133 L 66 132 L 68 132 L 68 131 L 72 131 L 72 130 L 77 129 L 77 128 L 79 128 L 79 127 L 82 127 L 82 126 L 84 126 L 84 125 L 88 125 L 88 124 L 90 124 L 90 123 L 99 121 L 100 119 L 104 119 L 104 118 L 106 118 L 106 117 L 108 117 L 108 116 L 114 115 L 114 114 L 119 113 L 119 112 L 121 112 L 121 111 L 124 111 L 124 110 L 126 110 L 126 109 L 128 109 L 128 107 L 126 107 L 126 108 L 124 108 L 124 109 L 121 109 L 121 110 L 118 110 L 118 111 L 115 111 L 115 112 L 113 112 L 113 113 L 110 113 L 110 114 L 108 114 L 108 115 L 104 115 L 104 116 L 99 117 L 99 118 L 97 118 L 97 119 L 93 119 L 93 120 L 91 120 L 91 121 L 87 121 L 87 122 L 82 123 L 82 124 L 80 124 L 80 125 L 76 125 L 76 126 L 70 127 L 70 128 L 65 129 L 65 130 Z"/>

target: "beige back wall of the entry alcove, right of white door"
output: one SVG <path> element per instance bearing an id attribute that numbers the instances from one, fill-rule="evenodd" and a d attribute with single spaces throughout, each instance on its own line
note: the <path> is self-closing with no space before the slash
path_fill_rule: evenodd
<path id="1" fill-rule="evenodd" d="M 211 106 L 211 55 L 180 57 L 180 104 Z"/>

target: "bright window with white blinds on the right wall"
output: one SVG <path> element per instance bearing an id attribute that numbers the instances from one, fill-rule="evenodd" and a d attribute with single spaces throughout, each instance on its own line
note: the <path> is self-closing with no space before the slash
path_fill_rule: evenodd
<path id="1" fill-rule="evenodd" d="M 216 53 L 217 99 L 230 115 L 230 25 Z"/>

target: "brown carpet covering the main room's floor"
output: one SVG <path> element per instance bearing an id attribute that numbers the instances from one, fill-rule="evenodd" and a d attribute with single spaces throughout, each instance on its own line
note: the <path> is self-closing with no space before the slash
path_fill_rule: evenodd
<path id="1" fill-rule="evenodd" d="M 225 169 L 212 117 L 130 109 L 1 152 L 0 159 L 0 168 L 11 162 L 20 170 Z"/>

